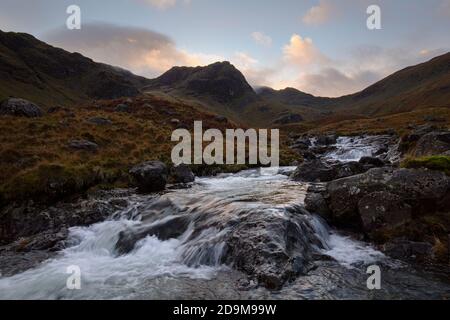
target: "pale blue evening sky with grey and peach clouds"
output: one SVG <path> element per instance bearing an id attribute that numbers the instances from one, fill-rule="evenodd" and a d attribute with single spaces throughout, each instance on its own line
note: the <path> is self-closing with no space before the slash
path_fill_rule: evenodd
<path id="1" fill-rule="evenodd" d="M 336 97 L 450 51 L 450 0 L 0 0 L 0 29 L 149 78 L 230 61 L 255 88 Z"/>

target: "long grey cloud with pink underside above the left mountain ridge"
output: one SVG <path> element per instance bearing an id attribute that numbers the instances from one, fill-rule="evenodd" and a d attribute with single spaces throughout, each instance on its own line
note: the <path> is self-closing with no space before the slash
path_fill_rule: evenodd
<path id="1" fill-rule="evenodd" d="M 71 52 L 80 52 L 96 61 L 155 77 L 173 66 L 206 65 L 219 56 L 180 49 L 166 35 L 113 24 L 84 24 L 79 31 L 58 29 L 45 40 Z"/>

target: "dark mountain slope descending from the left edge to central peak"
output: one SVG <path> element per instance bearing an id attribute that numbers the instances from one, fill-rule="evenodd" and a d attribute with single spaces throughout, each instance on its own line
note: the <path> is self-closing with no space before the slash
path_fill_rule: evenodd
<path id="1" fill-rule="evenodd" d="M 0 30 L 0 99 L 41 105 L 136 96 L 148 80 L 52 47 L 29 34 Z"/>

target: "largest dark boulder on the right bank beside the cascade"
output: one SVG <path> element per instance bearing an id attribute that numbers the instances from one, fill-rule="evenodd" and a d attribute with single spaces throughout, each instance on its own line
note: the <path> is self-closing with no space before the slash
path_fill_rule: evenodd
<path id="1" fill-rule="evenodd" d="M 408 210 L 404 207 L 405 204 L 411 206 L 415 215 L 432 214 L 438 209 L 439 203 L 448 196 L 449 191 L 450 178 L 441 172 L 375 168 L 360 175 L 328 183 L 329 199 L 327 201 L 334 223 L 347 227 L 352 226 L 363 231 L 372 231 L 365 230 L 361 223 L 359 210 L 363 209 L 365 205 L 359 204 L 366 196 L 369 198 L 362 203 L 370 202 L 372 207 L 377 207 L 375 201 L 379 201 L 378 206 L 383 205 L 381 195 L 386 193 L 396 195 L 397 197 L 389 196 L 390 203 L 384 207 L 385 217 L 399 212 L 405 216 Z M 377 192 L 385 193 L 377 194 Z"/>

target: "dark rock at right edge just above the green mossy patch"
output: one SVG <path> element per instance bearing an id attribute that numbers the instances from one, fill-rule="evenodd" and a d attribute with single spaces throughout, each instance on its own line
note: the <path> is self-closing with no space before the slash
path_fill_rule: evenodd
<path id="1" fill-rule="evenodd" d="M 448 151 L 450 151 L 450 132 L 430 132 L 417 141 L 412 156 L 432 156 L 444 154 Z"/>

